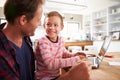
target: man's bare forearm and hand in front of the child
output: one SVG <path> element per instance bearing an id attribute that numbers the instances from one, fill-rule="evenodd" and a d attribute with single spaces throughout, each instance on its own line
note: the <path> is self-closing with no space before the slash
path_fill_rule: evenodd
<path id="1" fill-rule="evenodd" d="M 90 63 L 81 61 L 79 64 L 73 66 L 68 72 L 61 75 L 59 80 L 90 80 Z"/>

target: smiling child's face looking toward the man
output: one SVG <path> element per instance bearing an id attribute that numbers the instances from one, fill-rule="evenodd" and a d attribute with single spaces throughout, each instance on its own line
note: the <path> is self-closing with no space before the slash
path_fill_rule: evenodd
<path id="1" fill-rule="evenodd" d="M 44 27 L 47 36 L 49 36 L 51 40 L 56 40 L 59 32 L 63 29 L 63 25 L 61 24 L 61 19 L 58 16 L 51 16 L 46 18 Z"/>

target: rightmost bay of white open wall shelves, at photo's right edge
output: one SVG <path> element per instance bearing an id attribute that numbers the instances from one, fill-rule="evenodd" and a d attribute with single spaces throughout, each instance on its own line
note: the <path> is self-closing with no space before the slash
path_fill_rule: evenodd
<path id="1" fill-rule="evenodd" d="M 120 4 L 109 7 L 108 18 L 109 35 L 114 40 L 120 39 Z"/>

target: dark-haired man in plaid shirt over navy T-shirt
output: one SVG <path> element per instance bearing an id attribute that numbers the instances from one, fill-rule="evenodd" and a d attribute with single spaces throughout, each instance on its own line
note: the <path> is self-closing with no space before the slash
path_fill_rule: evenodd
<path id="1" fill-rule="evenodd" d="M 34 54 L 29 36 L 40 25 L 44 0 L 6 0 L 7 24 L 0 25 L 0 80 L 34 80 Z M 79 77 L 76 69 L 81 71 Z M 88 80 L 89 67 L 81 62 L 60 80 Z M 71 76 L 71 77 L 70 77 Z M 82 77 L 85 77 L 82 79 Z"/>

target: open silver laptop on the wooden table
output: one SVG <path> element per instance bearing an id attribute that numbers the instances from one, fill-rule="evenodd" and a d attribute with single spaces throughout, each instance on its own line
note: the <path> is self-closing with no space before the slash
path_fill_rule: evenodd
<path id="1" fill-rule="evenodd" d="M 88 59 L 90 59 L 92 61 L 93 69 L 99 68 L 100 63 L 102 62 L 102 60 L 104 58 L 104 55 L 109 47 L 111 40 L 112 40 L 111 36 L 105 36 L 104 40 L 103 40 L 103 44 L 102 44 L 101 49 L 98 52 L 98 54 L 96 56 L 95 55 L 87 55 Z"/>

